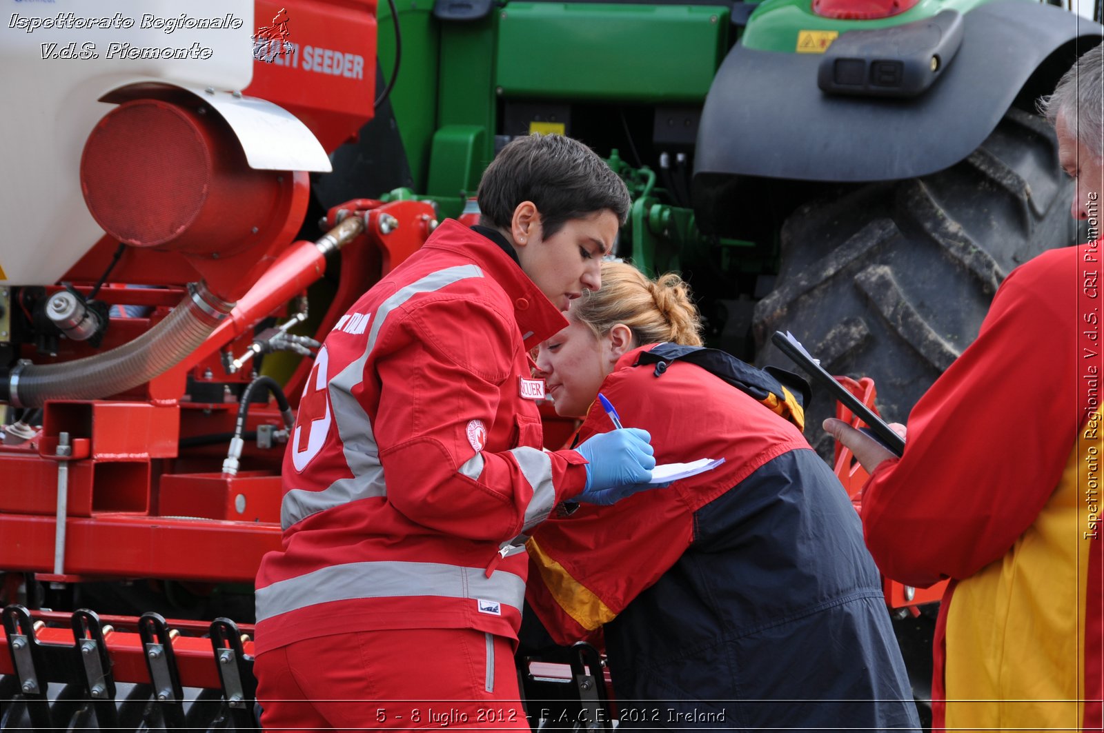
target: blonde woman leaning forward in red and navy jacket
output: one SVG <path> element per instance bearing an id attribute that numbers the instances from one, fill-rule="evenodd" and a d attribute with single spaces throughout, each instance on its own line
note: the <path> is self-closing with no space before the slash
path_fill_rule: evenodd
<path id="1" fill-rule="evenodd" d="M 919 729 L 859 518 L 795 394 L 701 349 L 675 274 L 605 263 L 567 321 L 537 363 L 578 440 L 613 428 L 601 391 L 658 464 L 724 458 L 529 542 L 531 607 L 559 644 L 604 634 L 622 725 Z"/>

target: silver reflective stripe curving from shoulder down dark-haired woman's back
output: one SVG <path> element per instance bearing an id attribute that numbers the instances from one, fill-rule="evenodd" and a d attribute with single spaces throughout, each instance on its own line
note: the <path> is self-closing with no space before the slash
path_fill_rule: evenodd
<path id="1" fill-rule="evenodd" d="M 475 265 L 446 267 L 400 288 L 375 310 L 364 353 L 331 378 L 327 386 L 333 410 L 333 422 L 337 424 L 352 478 L 338 479 L 321 491 L 291 489 L 285 493 L 280 504 L 280 524 L 285 530 L 320 511 L 359 499 L 386 496 L 388 487 L 383 478 L 383 466 L 380 464 L 380 447 L 372 432 L 372 422 L 352 391 L 364 379 L 364 364 L 375 347 L 383 322 L 392 310 L 415 295 L 433 293 L 453 283 L 482 276 L 482 272 Z"/>

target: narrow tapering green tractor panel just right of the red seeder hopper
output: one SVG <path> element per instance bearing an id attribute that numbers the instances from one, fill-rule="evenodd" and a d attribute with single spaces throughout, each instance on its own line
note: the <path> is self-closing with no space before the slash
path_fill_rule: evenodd
<path id="1" fill-rule="evenodd" d="M 429 145 L 437 129 L 437 68 L 440 33 L 431 14 L 432 0 L 395 0 L 403 55 L 399 77 L 391 91 L 395 123 L 406 150 L 414 185 L 425 190 L 429 170 Z M 383 83 L 391 78 L 395 61 L 395 30 L 391 9 L 379 3 L 379 57 Z M 382 92 L 376 89 L 376 94 Z"/>

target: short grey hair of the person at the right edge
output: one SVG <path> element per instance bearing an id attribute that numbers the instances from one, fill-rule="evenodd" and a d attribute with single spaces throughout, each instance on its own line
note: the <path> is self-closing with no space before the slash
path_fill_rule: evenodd
<path id="1" fill-rule="evenodd" d="M 1097 160 L 1104 159 L 1104 44 L 1078 59 L 1059 79 L 1054 94 L 1039 100 L 1039 111 L 1051 125 L 1062 115 L 1085 149 Z"/>

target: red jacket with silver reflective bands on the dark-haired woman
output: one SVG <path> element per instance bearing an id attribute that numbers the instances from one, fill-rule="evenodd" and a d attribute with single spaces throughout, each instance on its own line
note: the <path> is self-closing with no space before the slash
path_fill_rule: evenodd
<path id="1" fill-rule="evenodd" d="M 542 450 L 521 396 L 528 349 L 564 326 L 498 245 L 454 221 L 353 305 L 284 459 L 258 652 L 368 629 L 516 638 L 527 557 L 511 541 L 586 482 L 577 453 Z"/>

